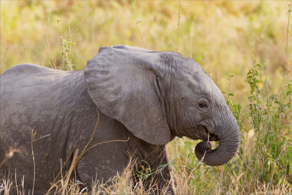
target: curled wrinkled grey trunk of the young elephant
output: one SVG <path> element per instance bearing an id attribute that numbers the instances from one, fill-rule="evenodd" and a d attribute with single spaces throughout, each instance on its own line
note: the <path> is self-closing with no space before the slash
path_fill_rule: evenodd
<path id="1" fill-rule="evenodd" d="M 230 128 L 222 135 L 217 135 L 219 146 L 212 150 L 211 144 L 201 141 L 195 148 L 196 157 L 210 166 L 219 166 L 227 163 L 237 152 L 240 142 L 239 126 L 232 116 Z M 221 137 L 222 136 L 222 137 Z"/>

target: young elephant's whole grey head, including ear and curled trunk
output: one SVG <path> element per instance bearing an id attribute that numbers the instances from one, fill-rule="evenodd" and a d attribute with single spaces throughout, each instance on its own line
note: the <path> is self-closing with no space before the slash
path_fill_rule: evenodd
<path id="1" fill-rule="evenodd" d="M 135 137 L 163 145 L 175 136 L 203 140 L 195 154 L 222 165 L 237 152 L 240 133 L 224 97 L 192 58 L 130 46 L 101 47 L 84 70 L 95 105 Z M 219 140 L 211 150 L 209 140 Z"/>

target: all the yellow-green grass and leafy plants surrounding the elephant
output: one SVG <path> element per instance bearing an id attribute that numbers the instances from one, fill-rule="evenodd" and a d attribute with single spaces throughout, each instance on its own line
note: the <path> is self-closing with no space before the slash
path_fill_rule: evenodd
<path id="1" fill-rule="evenodd" d="M 177 51 L 203 67 L 225 95 L 242 141 L 237 155 L 218 167 L 196 159 L 199 140 L 183 137 L 168 143 L 170 161 L 164 166 L 171 167 L 169 185 L 175 193 L 292 193 L 291 1 L 0 3 L 1 74 L 27 62 L 83 70 L 100 46 L 117 44 Z M 7 158 L 13 158 L 13 152 Z M 140 182 L 133 186 L 132 165 L 114 177 L 111 186 L 93 181 L 93 191 L 69 180 L 72 166 L 71 172 L 52 181 L 48 193 L 152 193 L 142 183 L 151 175 L 149 168 L 135 175 Z M 15 174 L 0 181 L 1 194 L 14 187 Z M 18 184 L 18 194 L 24 193 L 23 183 Z"/>

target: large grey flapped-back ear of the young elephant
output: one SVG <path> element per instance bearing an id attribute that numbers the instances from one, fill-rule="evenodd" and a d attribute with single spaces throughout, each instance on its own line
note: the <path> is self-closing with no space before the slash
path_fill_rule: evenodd
<path id="1" fill-rule="evenodd" d="M 130 49 L 100 48 L 84 70 L 87 91 L 102 113 L 121 122 L 135 137 L 164 145 L 171 134 L 159 99 L 161 54 Z"/>

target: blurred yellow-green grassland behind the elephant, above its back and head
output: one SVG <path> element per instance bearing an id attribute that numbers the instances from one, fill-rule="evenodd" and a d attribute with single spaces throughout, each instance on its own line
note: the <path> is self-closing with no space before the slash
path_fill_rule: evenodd
<path id="1" fill-rule="evenodd" d="M 176 51 L 180 2 L 134 3 L 146 48 Z M 257 63 L 263 65 L 260 87 L 266 88 L 270 81 L 270 92 L 281 94 L 283 87 L 279 86 L 287 83 L 287 10 L 287 1 L 181 1 L 177 51 L 197 61 L 222 91 L 229 89 L 227 74 L 235 75 L 234 99 L 243 104 L 247 104 L 250 91 L 246 73 L 252 60 L 259 57 Z M 70 32 L 72 41 L 84 17 L 73 46 L 72 63 L 77 70 L 85 68 L 100 46 L 144 47 L 132 1 L 1 1 L 0 17 L 1 74 L 13 65 L 26 63 L 25 50 L 29 63 L 50 67 L 44 27 L 48 28 L 51 53 L 60 68 L 63 47 L 57 19 L 61 20 L 63 38 L 69 41 Z M 288 39 L 292 41 L 291 33 Z"/>

